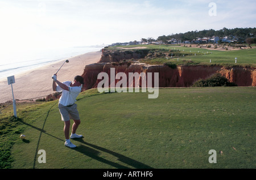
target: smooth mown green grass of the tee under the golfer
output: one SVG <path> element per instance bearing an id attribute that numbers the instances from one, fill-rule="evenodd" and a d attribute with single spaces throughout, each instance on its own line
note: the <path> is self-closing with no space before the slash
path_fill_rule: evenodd
<path id="1" fill-rule="evenodd" d="M 57 101 L 18 110 L 27 138 L 11 135 L 12 168 L 256 167 L 255 87 L 160 88 L 158 98 L 147 95 L 81 93 L 84 138 L 72 140 L 75 149 L 64 147 Z M 38 162 L 40 149 L 46 164 Z M 217 164 L 208 162 L 210 149 Z"/>

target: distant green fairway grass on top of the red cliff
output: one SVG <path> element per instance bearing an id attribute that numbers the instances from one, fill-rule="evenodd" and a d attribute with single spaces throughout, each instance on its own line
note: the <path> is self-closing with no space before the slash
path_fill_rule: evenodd
<path id="1" fill-rule="evenodd" d="M 165 62 L 176 63 L 177 65 L 241 65 L 241 66 L 253 66 L 256 63 L 256 48 L 254 49 L 240 49 L 240 50 L 212 50 L 207 48 L 189 48 L 184 46 L 173 45 L 133 45 L 125 46 L 127 48 L 135 48 L 137 46 L 143 46 L 150 49 L 161 50 L 163 53 L 172 53 L 169 50 L 173 50 L 174 56 L 166 59 L 162 58 L 145 58 L 141 62 L 149 64 L 161 64 Z M 117 46 L 123 47 L 123 46 Z M 112 48 L 113 50 L 116 48 Z M 175 55 L 179 52 L 180 55 Z M 183 57 L 184 54 L 184 57 Z M 195 55 L 196 54 L 196 55 Z M 178 59 L 179 58 L 179 61 Z M 237 63 L 235 63 L 237 58 Z M 210 63 L 211 60 L 211 63 Z"/>

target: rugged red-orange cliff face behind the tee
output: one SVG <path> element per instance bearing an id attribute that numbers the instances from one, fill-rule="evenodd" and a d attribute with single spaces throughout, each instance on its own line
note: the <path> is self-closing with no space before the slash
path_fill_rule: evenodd
<path id="1" fill-rule="evenodd" d="M 115 75 L 124 72 L 128 77 L 129 72 L 159 72 L 159 87 L 190 87 L 199 79 L 220 73 L 230 82 L 238 86 L 256 86 L 256 69 L 245 67 L 225 68 L 222 66 L 179 66 L 175 69 L 165 65 L 146 65 L 144 63 L 94 63 L 84 69 L 82 76 L 85 79 L 84 90 L 97 88 L 101 79 L 97 79 L 100 72 L 106 72 L 110 82 L 110 68 L 115 68 Z M 128 78 L 127 78 L 128 79 Z M 154 80 L 154 77 L 153 77 Z M 117 83 L 118 80 L 115 80 Z M 129 82 L 127 82 L 128 84 Z M 154 85 L 154 82 L 152 82 Z M 141 82 L 140 82 L 140 86 Z"/>

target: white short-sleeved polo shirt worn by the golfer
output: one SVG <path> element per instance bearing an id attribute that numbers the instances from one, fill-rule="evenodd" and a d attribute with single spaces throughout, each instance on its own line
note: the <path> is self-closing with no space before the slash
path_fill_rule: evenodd
<path id="1" fill-rule="evenodd" d="M 63 106 L 69 106 L 69 105 L 73 105 L 76 102 L 76 97 L 79 95 L 79 93 L 81 92 L 81 87 L 71 87 L 72 82 L 63 82 L 63 84 L 68 86 L 69 91 L 64 90 L 63 88 L 59 87 L 59 85 L 57 85 L 56 87 L 56 91 L 57 92 L 61 92 L 61 97 L 59 99 L 59 104 L 63 105 Z"/>

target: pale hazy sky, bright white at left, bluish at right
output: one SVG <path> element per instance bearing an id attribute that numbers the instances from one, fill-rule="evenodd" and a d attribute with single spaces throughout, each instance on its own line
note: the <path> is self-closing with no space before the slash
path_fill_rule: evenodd
<path id="1" fill-rule="evenodd" d="M 256 1 L 0 0 L 0 48 L 109 45 L 256 27 Z"/>

